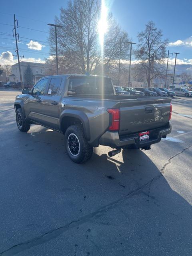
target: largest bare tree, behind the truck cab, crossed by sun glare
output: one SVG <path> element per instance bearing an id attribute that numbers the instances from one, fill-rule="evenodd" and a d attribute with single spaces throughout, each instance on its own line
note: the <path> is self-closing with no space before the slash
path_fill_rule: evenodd
<path id="1" fill-rule="evenodd" d="M 100 0 L 69 0 L 67 8 L 61 8 L 55 22 L 58 29 L 58 62 L 60 72 L 100 72 L 101 50 L 98 40 Z M 104 64 L 106 72 L 111 64 L 128 53 L 128 35 L 122 32 L 111 14 L 108 15 L 108 32 L 104 39 Z M 54 29 L 50 28 L 50 48 L 55 54 Z M 120 46 L 121 38 L 121 46 Z M 121 48 L 121 50 L 120 50 Z M 120 56 L 121 54 L 121 56 Z M 120 56 L 120 57 L 119 57 Z"/>

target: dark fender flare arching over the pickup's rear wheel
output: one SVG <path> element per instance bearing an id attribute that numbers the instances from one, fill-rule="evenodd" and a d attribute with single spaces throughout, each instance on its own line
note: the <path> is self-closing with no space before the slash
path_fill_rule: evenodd
<path id="1" fill-rule="evenodd" d="M 59 124 L 60 131 L 62 131 L 62 127 L 61 127 L 62 126 L 62 118 L 65 116 L 78 118 L 82 122 L 85 137 L 89 141 L 90 140 L 90 127 L 89 127 L 89 120 L 88 120 L 88 117 L 86 116 L 86 114 L 80 110 L 66 109 L 66 110 L 62 111 L 62 113 L 60 115 L 60 124 Z"/>

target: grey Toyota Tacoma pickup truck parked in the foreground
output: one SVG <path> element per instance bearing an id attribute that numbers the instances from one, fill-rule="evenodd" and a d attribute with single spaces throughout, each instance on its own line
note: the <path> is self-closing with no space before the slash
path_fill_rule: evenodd
<path id="1" fill-rule="evenodd" d="M 23 89 L 14 109 L 21 132 L 31 124 L 61 132 L 68 156 L 81 163 L 99 145 L 116 149 L 108 152 L 110 157 L 127 147 L 149 150 L 171 132 L 170 102 L 165 97 L 116 95 L 108 77 L 57 75 L 41 78 L 32 90 Z"/>

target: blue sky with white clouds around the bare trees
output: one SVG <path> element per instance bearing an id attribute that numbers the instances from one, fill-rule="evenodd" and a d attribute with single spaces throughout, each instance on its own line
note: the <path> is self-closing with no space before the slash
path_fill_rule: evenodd
<path id="1" fill-rule="evenodd" d="M 163 31 L 163 37 L 169 39 L 167 51 L 180 53 L 177 64 L 192 65 L 191 0 L 106 0 L 106 3 L 132 42 L 138 43 L 138 32 L 152 20 Z M 44 58 L 50 56 L 47 24 L 54 23 L 55 16 L 60 15 L 60 7 L 66 7 L 66 4 L 67 0 L 3 1 L 0 8 L 0 64 L 17 62 L 12 56 L 16 54 L 12 37 L 14 14 L 18 19 L 18 47 L 20 55 L 24 55 L 23 60 L 44 62 Z"/>

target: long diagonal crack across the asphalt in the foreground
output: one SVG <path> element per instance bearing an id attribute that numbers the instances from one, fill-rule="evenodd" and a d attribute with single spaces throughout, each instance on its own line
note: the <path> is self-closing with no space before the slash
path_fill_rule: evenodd
<path id="1" fill-rule="evenodd" d="M 170 157 L 168 159 L 168 161 L 164 164 L 164 166 L 162 167 L 162 169 L 160 170 L 160 174 L 155 176 L 154 178 L 152 178 L 151 180 L 149 180 L 147 183 L 145 183 L 142 186 L 139 186 L 138 188 L 136 188 L 135 190 L 132 190 L 131 192 L 129 192 L 127 195 L 122 196 L 121 198 L 111 202 L 110 204 L 107 204 L 105 206 L 100 207 L 98 210 L 96 210 L 95 212 L 92 212 L 90 214 L 87 214 L 81 218 L 79 218 L 78 220 L 74 220 L 72 222 L 69 222 L 68 224 L 61 226 L 59 228 L 50 230 L 36 238 L 33 238 L 31 240 L 25 241 L 23 243 L 19 243 L 19 244 L 15 244 L 14 246 L 8 248 L 7 250 L 5 250 L 4 252 L 0 253 L 0 256 L 12 256 L 15 255 L 19 252 L 22 252 L 24 250 L 27 250 L 33 246 L 37 246 L 39 244 L 43 244 L 45 242 L 48 242 L 56 237 L 58 237 L 60 234 L 63 234 L 64 232 L 68 231 L 71 228 L 74 228 L 76 226 L 79 226 L 85 222 L 90 221 L 92 218 L 95 217 L 100 217 L 102 216 L 102 214 L 104 214 L 105 212 L 107 212 L 108 210 L 114 208 L 117 204 L 119 204 L 120 202 L 126 200 L 127 198 L 137 194 L 138 192 L 140 192 L 140 190 L 143 190 L 144 188 L 146 188 L 147 186 L 151 187 L 152 182 L 158 180 L 160 177 L 163 176 L 163 172 L 165 170 L 165 168 L 171 163 L 172 159 L 175 158 L 176 156 L 182 154 L 185 150 L 188 150 L 189 148 L 191 148 L 191 146 L 188 146 L 187 148 L 184 148 L 182 151 L 178 152 L 177 154 L 175 154 L 174 156 Z M 148 196 L 150 196 L 150 188 L 148 190 Z"/>

